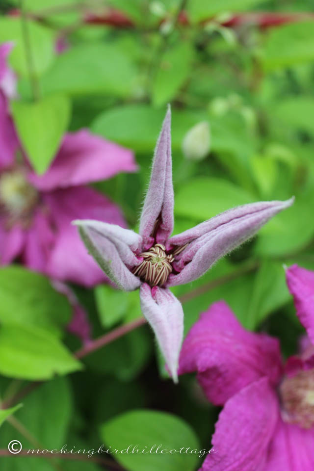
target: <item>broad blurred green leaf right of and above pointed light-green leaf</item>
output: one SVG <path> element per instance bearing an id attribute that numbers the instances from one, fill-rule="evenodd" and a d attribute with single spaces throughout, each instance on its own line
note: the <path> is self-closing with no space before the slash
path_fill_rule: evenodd
<path id="1" fill-rule="evenodd" d="M 136 69 L 121 48 L 115 44 L 86 43 L 60 54 L 42 78 L 42 86 L 45 93 L 128 97 L 135 80 Z"/>

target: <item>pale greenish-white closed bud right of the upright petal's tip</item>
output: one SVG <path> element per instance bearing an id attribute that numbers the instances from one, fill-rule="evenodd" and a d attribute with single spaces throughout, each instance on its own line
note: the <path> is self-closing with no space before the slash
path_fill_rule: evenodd
<path id="1" fill-rule="evenodd" d="M 209 153 L 209 123 L 202 121 L 191 128 L 184 136 L 182 150 L 188 160 L 203 160 Z"/>

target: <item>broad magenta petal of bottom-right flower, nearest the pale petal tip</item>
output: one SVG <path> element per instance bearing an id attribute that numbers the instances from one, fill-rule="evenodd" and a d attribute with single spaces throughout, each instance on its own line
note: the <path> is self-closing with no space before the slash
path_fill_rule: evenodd
<path id="1" fill-rule="evenodd" d="M 282 374 L 279 341 L 246 331 L 225 302 L 216 302 L 184 339 L 179 374 L 193 371 L 209 401 L 222 405 L 262 376 L 277 385 Z"/>

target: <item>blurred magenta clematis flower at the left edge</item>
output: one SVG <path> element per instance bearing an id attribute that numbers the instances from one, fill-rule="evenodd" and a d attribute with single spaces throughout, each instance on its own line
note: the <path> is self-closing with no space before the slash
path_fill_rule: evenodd
<path id="1" fill-rule="evenodd" d="M 0 46 L 0 262 L 19 258 L 53 279 L 93 286 L 105 280 L 104 273 L 71 221 L 95 218 L 125 226 L 120 209 L 86 183 L 135 171 L 133 153 L 88 130 L 69 132 L 46 173 L 36 175 L 22 157 L 1 88 L 10 48 Z"/>

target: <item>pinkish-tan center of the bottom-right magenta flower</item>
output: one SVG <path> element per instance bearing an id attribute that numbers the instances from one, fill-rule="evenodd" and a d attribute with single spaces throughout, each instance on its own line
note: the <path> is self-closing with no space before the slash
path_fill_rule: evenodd
<path id="1" fill-rule="evenodd" d="M 287 422 L 297 423 L 302 428 L 314 425 L 314 369 L 285 377 L 280 394 Z"/>

